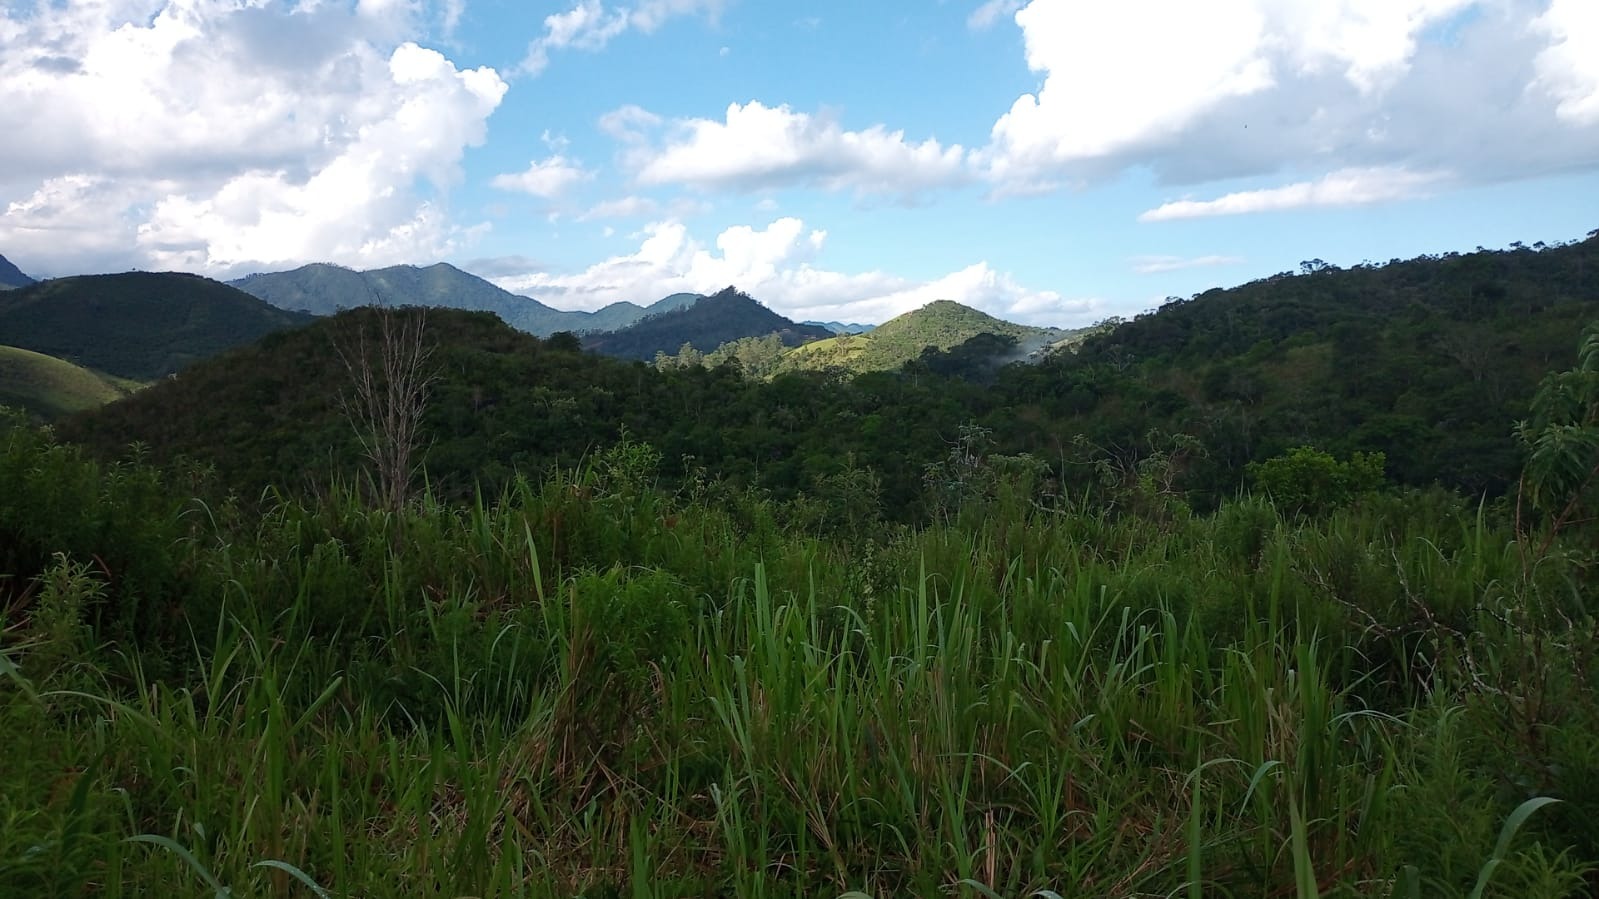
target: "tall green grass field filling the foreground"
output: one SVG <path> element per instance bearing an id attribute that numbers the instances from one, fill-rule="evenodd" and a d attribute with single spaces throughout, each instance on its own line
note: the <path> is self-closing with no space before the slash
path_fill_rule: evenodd
<path id="1" fill-rule="evenodd" d="M 390 515 L 8 430 L 0 894 L 1599 885 L 1591 541 L 1004 489 L 844 539 L 649 467 Z"/>

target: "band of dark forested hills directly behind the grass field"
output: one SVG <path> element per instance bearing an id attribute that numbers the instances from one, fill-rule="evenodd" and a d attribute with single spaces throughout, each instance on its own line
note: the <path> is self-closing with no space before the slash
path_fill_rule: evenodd
<path id="1" fill-rule="evenodd" d="M 982 435 L 983 451 L 1031 454 L 1059 489 L 1138 478 L 1166 459 L 1166 486 L 1207 504 L 1233 496 L 1249 462 L 1311 445 L 1340 457 L 1380 451 L 1398 483 L 1498 494 L 1521 469 L 1513 424 L 1538 379 L 1575 362 L 1596 318 L 1599 240 L 1210 291 L 988 382 L 963 376 L 964 344 L 894 373 L 761 381 L 736 366 L 603 358 L 489 315 L 437 310 L 441 381 L 425 464 L 435 485 L 492 488 L 515 470 L 577 464 L 625 429 L 662 453 L 667 483 L 704 465 L 793 496 L 846 489 L 865 472 L 884 510 L 911 520 L 927 504 L 927 465 L 964 432 Z M 333 352 L 349 320 L 192 366 L 61 434 L 106 454 L 139 440 L 251 488 L 352 470 L 360 453 L 336 402 L 349 374 Z"/>

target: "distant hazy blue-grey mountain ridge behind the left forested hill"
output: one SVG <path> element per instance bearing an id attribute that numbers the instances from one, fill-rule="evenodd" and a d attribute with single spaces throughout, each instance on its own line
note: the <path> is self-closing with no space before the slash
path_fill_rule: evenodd
<path id="1" fill-rule="evenodd" d="M 665 312 L 699 299 L 697 294 L 673 294 L 648 309 L 632 302 L 614 302 L 598 312 L 566 312 L 502 290 L 445 262 L 425 269 L 392 266 L 368 272 L 317 262 L 291 272 L 246 275 L 229 283 L 280 309 L 313 315 L 331 315 L 341 309 L 373 304 L 433 306 L 492 312 L 512 328 L 542 338 L 556 331 L 582 334 L 625 328 L 651 310 Z"/>

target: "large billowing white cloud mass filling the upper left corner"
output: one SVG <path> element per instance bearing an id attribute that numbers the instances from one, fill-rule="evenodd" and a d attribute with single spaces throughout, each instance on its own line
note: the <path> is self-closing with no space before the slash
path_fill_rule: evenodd
<path id="1" fill-rule="evenodd" d="M 5 18 L 0 133 L 29 139 L 0 144 L 0 243 L 45 274 L 454 251 L 475 232 L 443 195 L 505 82 L 400 40 L 416 14 L 131 0 Z"/>

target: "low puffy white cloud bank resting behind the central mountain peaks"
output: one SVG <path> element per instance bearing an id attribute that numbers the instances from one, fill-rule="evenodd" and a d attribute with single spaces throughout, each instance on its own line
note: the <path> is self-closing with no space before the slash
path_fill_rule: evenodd
<path id="1" fill-rule="evenodd" d="M 494 280 L 505 290 L 568 309 L 649 302 L 672 293 L 710 293 L 734 285 L 795 320 L 883 322 L 934 299 L 1046 325 L 1086 325 L 1099 312 L 1092 301 L 1028 290 L 987 262 L 931 280 L 833 272 L 817 264 L 827 232 L 796 218 L 780 218 L 764 229 L 729 227 L 712 246 L 678 221 L 651 224 L 640 238 L 636 251 L 580 272 L 528 272 Z"/>

